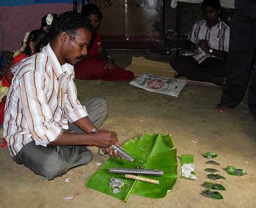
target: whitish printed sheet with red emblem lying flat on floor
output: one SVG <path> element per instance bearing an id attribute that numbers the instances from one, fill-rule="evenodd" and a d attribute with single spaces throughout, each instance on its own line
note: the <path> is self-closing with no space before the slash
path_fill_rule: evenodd
<path id="1" fill-rule="evenodd" d="M 134 78 L 131 85 L 139 87 L 154 93 L 168 94 L 177 97 L 186 84 L 185 80 L 177 80 L 175 78 L 165 78 L 143 73 Z"/>

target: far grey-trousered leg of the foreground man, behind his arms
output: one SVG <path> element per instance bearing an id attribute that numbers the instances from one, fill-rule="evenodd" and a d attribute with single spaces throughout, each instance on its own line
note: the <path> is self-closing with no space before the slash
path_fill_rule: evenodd
<path id="1" fill-rule="evenodd" d="M 97 97 L 88 101 L 82 101 L 81 105 L 86 107 L 90 121 L 99 128 L 108 115 L 108 101 L 105 98 Z M 84 133 L 84 131 L 80 130 L 74 123 L 68 123 L 68 131 Z"/>

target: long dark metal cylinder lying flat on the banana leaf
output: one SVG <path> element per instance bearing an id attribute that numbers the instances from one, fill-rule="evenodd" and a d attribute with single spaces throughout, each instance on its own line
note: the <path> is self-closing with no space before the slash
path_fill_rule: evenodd
<path id="1" fill-rule="evenodd" d="M 136 174 L 136 175 L 154 175 L 163 176 L 163 170 L 144 169 L 144 168 L 109 168 L 111 174 Z"/>

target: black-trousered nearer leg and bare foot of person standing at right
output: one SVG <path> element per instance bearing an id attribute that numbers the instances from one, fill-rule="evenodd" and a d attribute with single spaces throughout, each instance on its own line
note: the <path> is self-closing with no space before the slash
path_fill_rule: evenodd
<path id="1" fill-rule="evenodd" d="M 253 4 L 251 1 L 236 1 L 236 11 L 230 28 L 228 75 L 221 95 L 219 112 L 236 107 L 243 100 L 246 91 L 256 41 L 256 27 L 252 20 L 255 15 Z"/>

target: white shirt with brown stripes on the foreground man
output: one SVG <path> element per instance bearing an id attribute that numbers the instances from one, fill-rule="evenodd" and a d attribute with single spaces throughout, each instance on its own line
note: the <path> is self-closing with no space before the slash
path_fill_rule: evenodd
<path id="1" fill-rule="evenodd" d="M 88 116 L 77 100 L 73 66 L 61 66 L 49 44 L 15 67 L 3 124 L 11 156 L 33 140 L 46 146 L 68 129 L 68 121 Z"/>

